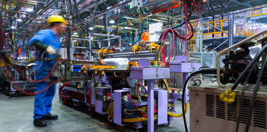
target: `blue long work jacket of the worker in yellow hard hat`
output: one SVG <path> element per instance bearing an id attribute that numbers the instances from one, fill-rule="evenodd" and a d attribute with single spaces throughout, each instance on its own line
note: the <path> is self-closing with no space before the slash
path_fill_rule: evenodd
<path id="1" fill-rule="evenodd" d="M 58 50 L 58 53 L 60 53 L 60 48 L 61 48 L 60 36 L 58 34 L 54 33 L 54 31 L 51 29 L 39 31 L 36 35 L 34 35 L 33 38 L 31 38 L 31 40 L 29 42 L 30 47 L 32 46 L 33 42 L 35 42 L 35 41 L 39 41 L 42 44 L 45 44 L 47 46 L 51 46 L 55 50 Z M 43 51 L 38 49 L 37 59 L 40 58 L 40 60 L 38 60 L 38 62 L 36 62 L 35 69 L 40 66 L 42 53 L 43 53 Z M 56 62 L 54 60 L 46 60 L 46 58 L 54 58 L 55 56 L 56 56 L 56 54 L 49 55 L 47 53 L 44 53 L 43 60 L 42 60 L 42 66 L 36 70 L 35 75 L 36 76 L 46 76 L 47 74 L 49 74 L 51 68 L 54 66 L 54 64 Z"/>

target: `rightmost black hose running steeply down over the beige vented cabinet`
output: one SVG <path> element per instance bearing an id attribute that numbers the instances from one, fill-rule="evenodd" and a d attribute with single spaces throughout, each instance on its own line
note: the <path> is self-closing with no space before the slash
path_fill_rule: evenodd
<path id="1" fill-rule="evenodd" d="M 261 72 L 259 72 L 258 79 L 257 79 L 256 85 L 255 85 L 254 91 L 253 91 L 251 104 L 250 104 L 250 111 L 248 112 L 248 120 L 247 120 L 247 124 L 245 125 L 245 132 L 248 132 L 248 129 L 250 129 L 250 119 L 251 119 L 251 116 L 252 116 L 252 111 L 253 111 L 254 102 L 255 102 L 255 99 L 256 99 L 256 94 L 257 94 L 257 91 L 258 91 L 258 88 L 259 88 L 259 82 L 261 81 L 261 77 L 264 74 L 265 69 L 266 69 L 267 56 L 265 58 L 266 59 L 264 60 L 264 65 L 262 65 Z"/>

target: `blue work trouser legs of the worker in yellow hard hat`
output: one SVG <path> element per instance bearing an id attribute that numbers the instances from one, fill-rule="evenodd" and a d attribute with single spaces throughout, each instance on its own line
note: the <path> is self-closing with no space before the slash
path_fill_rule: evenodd
<path id="1" fill-rule="evenodd" d="M 37 80 L 44 79 L 44 77 L 45 76 L 36 76 L 36 79 Z M 46 88 L 47 85 L 49 85 L 49 82 L 42 81 L 40 83 L 37 83 L 37 92 Z M 35 95 L 34 111 L 33 111 L 34 119 L 42 118 L 44 117 L 44 115 L 48 115 L 50 113 L 52 109 L 52 100 L 54 98 L 55 90 L 56 90 L 56 84 L 51 85 L 51 87 L 45 90 L 44 92 Z"/>

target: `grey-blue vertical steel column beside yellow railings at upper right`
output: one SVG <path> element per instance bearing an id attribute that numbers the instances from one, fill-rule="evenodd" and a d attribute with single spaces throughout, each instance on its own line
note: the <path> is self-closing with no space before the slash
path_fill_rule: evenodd
<path id="1" fill-rule="evenodd" d="M 228 15 L 228 47 L 234 44 L 234 12 Z"/>

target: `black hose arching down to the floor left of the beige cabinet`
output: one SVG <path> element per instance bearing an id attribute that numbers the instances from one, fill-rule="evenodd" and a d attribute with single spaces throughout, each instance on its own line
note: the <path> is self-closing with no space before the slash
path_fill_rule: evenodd
<path id="1" fill-rule="evenodd" d="M 222 72 L 223 69 L 220 69 L 220 72 Z M 216 74 L 217 73 L 217 68 L 202 68 L 198 71 L 195 71 L 195 72 L 192 72 L 190 74 L 190 76 L 188 76 L 188 78 L 186 79 L 186 82 L 184 83 L 184 87 L 183 87 L 183 94 L 182 94 L 182 99 L 181 99 L 181 109 L 183 111 L 183 118 L 184 118 L 184 127 L 186 129 L 186 132 L 188 132 L 188 129 L 187 129 L 187 124 L 186 124 L 186 114 L 184 112 L 184 94 L 185 94 L 185 91 L 186 91 L 186 85 L 188 83 L 188 81 L 191 79 L 192 76 L 195 76 L 196 74 Z M 220 73 L 218 73 L 220 74 Z"/>

